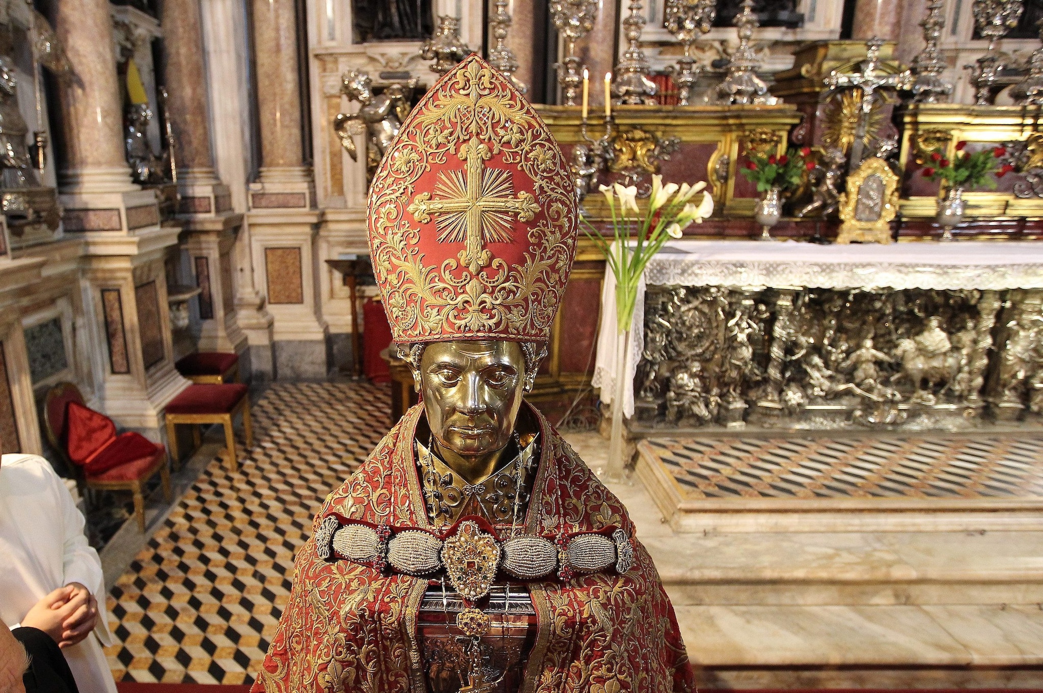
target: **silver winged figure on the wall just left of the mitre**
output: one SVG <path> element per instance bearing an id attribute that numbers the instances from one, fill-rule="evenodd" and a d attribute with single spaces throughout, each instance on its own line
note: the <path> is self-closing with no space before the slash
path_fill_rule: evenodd
<path id="1" fill-rule="evenodd" d="M 334 120 L 334 131 L 353 162 L 359 160 L 359 152 L 351 135 L 366 134 L 366 166 L 372 172 L 384 158 L 384 152 L 391 146 L 403 121 L 409 115 L 406 89 L 412 91 L 416 86 L 416 79 L 410 80 L 406 85 L 389 84 L 380 96 L 373 96 L 372 80 L 365 72 L 351 70 L 341 79 L 341 93 L 348 101 L 358 101 L 361 107 L 356 114 L 338 114 Z"/>

